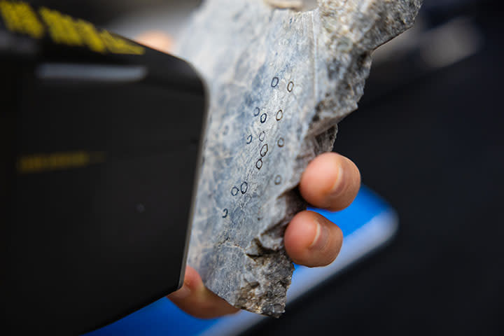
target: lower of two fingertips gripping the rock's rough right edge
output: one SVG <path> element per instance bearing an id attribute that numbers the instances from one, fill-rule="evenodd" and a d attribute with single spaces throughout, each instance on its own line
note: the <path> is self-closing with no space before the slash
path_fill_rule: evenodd
<path id="1" fill-rule="evenodd" d="M 332 263 L 343 244 L 343 233 L 324 216 L 313 211 L 297 214 L 285 233 L 286 251 L 299 265 L 327 266 Z"/>

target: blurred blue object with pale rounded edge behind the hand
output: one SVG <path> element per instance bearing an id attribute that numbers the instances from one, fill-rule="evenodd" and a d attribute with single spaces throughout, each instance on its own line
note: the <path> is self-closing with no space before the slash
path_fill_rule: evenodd
<path id="1" fill-rule="evenodd" d="M 297 266 L 288 303 L 363 258 L 390 240 L 397 230 L 395 211 L 368 188 L 361 188 L 356 200 L 344 211 L 311 209 L 342 229 L 344 244 L 337 260 L 328 267 L 309 269 Z M 235 316 L 202 320 L 194 318 L 163 298 L 116 323 L 87 336 L 109 335 L 237 335 L 260 322 L 264 316 L 242 311 Z"/>

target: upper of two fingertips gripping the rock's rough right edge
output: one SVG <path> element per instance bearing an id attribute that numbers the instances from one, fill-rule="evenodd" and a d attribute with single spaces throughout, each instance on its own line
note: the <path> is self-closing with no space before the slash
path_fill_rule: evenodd
<path id="1" fill-rule="evenodd" d="M 301 177 L 300 192 L 314 207 L 339 211 L 348 207 L 360 189 L 360 172 L 349 159 L 325 153 L 313 160 Z"/>

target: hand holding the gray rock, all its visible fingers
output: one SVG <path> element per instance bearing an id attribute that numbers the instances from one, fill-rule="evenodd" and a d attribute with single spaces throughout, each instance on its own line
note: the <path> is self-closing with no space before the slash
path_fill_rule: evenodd
<path id="1" fill-rule="evenodd" d="M 172 40 L 157 32 L 143 34 L 139 41 L 162 51 L 171 48 Z M 302 174 L 300 193 L 314 207 L 339 211 L 348 207 L 360 188 L 360 173 L 349 159 L 336 153 L 325 153 L 313 160 Z M 313 211 L 302 211 L 290 221 L 285 233 L 285 247 L 298 265 L 330 265 L 343 243 L 339 228 Z M 199 274 L 187 267 L 183 287 L 168 295 L 183 311 L 199 318 L 216 318 L 234 314 L 232 307 L 208 290 Z"/>

